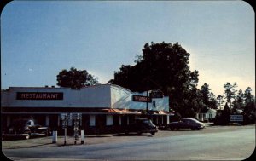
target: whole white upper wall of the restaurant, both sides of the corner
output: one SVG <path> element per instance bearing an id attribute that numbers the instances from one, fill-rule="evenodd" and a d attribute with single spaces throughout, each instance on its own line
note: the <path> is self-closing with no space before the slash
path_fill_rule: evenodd
<path id="1" fill-rule="evenodd" d="M 17 92 L 61 92 L 63 100 L 16 100 Z M 102 84 L 82 89 L 69 88 L 9 88 L 9 91 L 1 92 L 1 106 L 4 107 L 91 107 L 91 108 L 119 108 L 146 110 L 146 102 L 132 101 L 132 95 L 144 95 L 144 93 L 132 93 L 129 89 L 117 85 Z M 148 94 L 149 95 L 149 94 Z M 169 111 L 169 97 L 152 99 L 155 107 L 148 102 L 148 110 Z"/>

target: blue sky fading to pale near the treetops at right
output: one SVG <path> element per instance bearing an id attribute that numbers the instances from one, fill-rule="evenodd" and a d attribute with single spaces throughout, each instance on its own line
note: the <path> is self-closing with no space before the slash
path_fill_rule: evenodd
<path id="1" fill-rule="evenodd" d="M 198 88 L 255 91 L 253 8 L 243 1 L 13 1 L 1 14 L 1 88 L 56 86 L 62 69 L 108 83 L 145 43 L 179 43 Z"/>

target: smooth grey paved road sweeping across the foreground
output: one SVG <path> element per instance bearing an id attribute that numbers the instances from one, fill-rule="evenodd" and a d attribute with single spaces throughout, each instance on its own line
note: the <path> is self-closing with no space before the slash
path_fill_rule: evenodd
<path id="1" fill-rule="evenodd" d="M 242 160 L 255 148 L 255 125 L 87 137 L 97 140 L 90 145 L 2 150 L 15 160 Z"/>

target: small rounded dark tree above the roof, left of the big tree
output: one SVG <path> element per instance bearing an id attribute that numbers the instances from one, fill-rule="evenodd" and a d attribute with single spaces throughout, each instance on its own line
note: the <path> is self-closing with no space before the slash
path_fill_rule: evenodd
<path id="1" fill-rule="evenodd" d="M 80 89 L 98 83 L 97 78 L 90 75 L 86 70 L 80 71 L 71 67 L 61 70 L 57 75 L 57 85 L 60 87 L 70 87 L 72 89 Z"/>

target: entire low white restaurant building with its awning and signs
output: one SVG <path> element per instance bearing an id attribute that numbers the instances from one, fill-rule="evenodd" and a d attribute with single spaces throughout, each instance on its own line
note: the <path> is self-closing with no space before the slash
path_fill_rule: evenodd
<path id="1" fill-rule="evenodd" d="M 167 124 L 174 113 L 169 112 L 169 97 L 149 97 L 150 92 L 131 92 L 114 84 L 99 84 L 82 89 L 52 87 L 9 87 L 1 91 L 2 128 L 19 118 L 33 118 L 38 124 L 61 130 L 63 113 L 79 113 L 84 133 L 116 132 L 136 118 L 148 117 L 154 124 Z M 69 115 L 71 116 L 71 115 Z M 68 120 L 73 129 L 73 120 Z"/>

